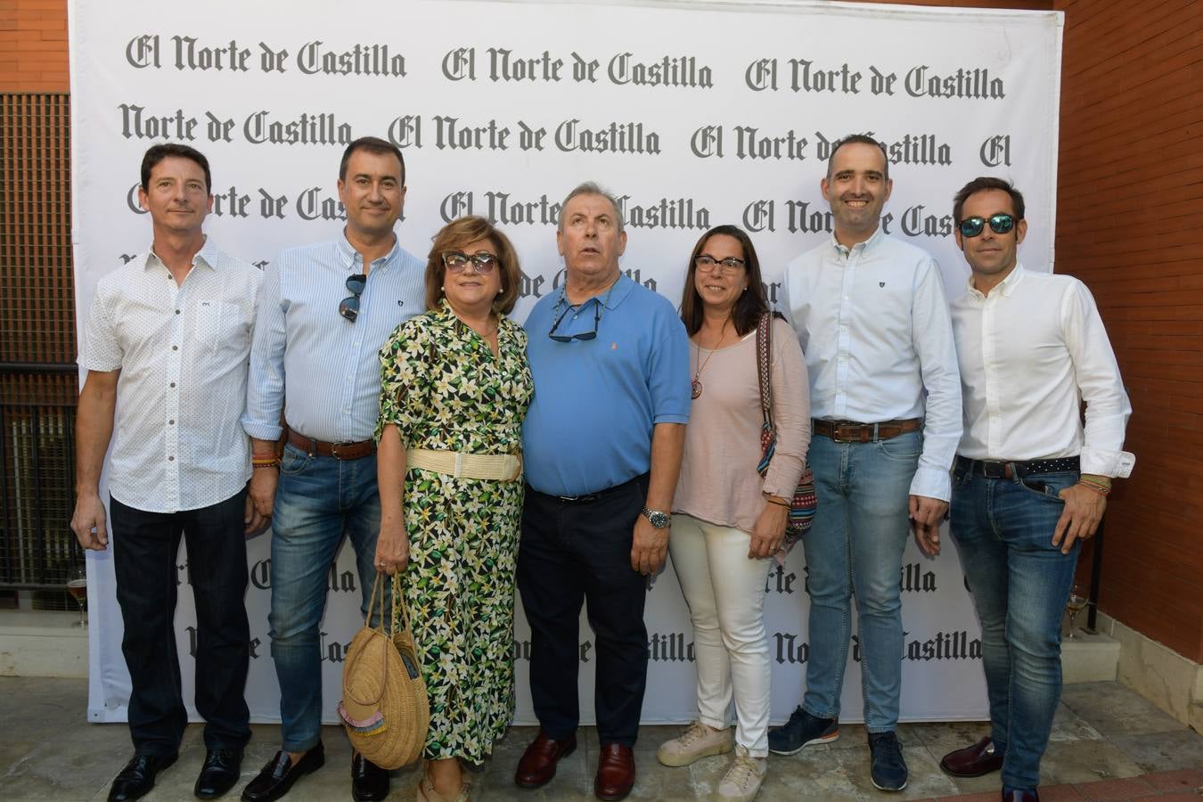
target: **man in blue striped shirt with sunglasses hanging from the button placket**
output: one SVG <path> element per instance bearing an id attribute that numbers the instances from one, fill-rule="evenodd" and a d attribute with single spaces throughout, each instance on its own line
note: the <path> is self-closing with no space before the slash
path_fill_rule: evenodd
<path id="1" fill-rule="evenodd" d="M 377 571 L 391 574 L 401 559 L 399 543 L 377 542 L 372 441 L 378 351 L 423 307 L 423 263 L 393 233 L 405 200 L 401 150 L 375 137 L 352 142 L 338 195 L 343 236 L 280 254 L 259 293 L 243 428 L 251 438 L 250 497 L 261 515 L 273 516 L 268 623 L 282 748 L 243 790 L 247 802 L 278 800 L 325 761 L 318 628 L 343 533 L 355 548 L 365 614 Z M 356 800 L 383 800 L 389 774 L 356 754 L 351 791 Z"/>

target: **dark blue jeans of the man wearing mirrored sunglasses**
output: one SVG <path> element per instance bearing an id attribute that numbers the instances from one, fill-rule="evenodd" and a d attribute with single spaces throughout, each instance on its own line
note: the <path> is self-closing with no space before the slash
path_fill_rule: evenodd
<path id="1" fill-rule="evenodd" d="M 960 462 L 960 461 L 958 461 Z M 1061 616 L 1078 543 L 1053 546 L 1057 493 L 1078 474 L 986 479 L 958 464 L 950 531 L 982 620 L 990 737 L 1005 750 L 1002 784 L 1036 788 L 1061 699 Z"/>

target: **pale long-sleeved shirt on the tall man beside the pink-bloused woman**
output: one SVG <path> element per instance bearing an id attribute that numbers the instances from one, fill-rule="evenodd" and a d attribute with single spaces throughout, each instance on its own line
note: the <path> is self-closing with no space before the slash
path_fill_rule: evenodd
<path id="1" fill-rule="evenodd" d="M 860 423 L 925 418 L 911 493 L 947 501 L 961 385 L 936 261 L 878 227 L 851 249 L 832 237 L 792 261 L 782 292 L 806 355 L 811 415 Z"/>

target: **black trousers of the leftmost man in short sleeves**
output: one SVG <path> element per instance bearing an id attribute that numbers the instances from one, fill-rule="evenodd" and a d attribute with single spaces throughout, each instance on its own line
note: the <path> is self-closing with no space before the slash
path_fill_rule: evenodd
<path id="1" fill-rule="evenodd" d="M 208 749 L 242 749 L 250 739 L 243 691 L 250 660 L 247 625 L 247 492 L 200 510 L 146 512 L 109 498 L 113 571 L 130 671 L 134 749 L 167 755 L 188 724 L 176 652 L 179 539 L 188 543 L 188 582 L 196 601 L 196 709 Z"/>

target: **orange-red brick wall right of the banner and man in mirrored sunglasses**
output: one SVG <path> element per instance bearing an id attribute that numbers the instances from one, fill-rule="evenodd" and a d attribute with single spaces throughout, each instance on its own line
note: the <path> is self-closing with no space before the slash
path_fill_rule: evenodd
<path id="1" fill-rule="evenodd" d="M 1066 12 L 1056 269 L 1095 293 L 1132 398 L 1102 610 L 1203 663 L 1203 13 Z"/>

